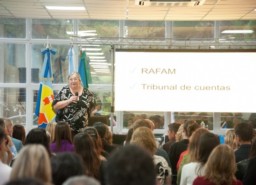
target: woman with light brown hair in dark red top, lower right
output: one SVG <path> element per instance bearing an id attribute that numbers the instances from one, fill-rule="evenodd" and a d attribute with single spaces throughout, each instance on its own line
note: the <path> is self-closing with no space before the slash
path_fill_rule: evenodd
<path id="1" fill-rule="evenodd" d="M 212 150 L 205 165 L 204 176 L 198 176 L 193 185 L 242 185 L 236 180 L 234 150 L 228 145 L 219 145 Z"/>

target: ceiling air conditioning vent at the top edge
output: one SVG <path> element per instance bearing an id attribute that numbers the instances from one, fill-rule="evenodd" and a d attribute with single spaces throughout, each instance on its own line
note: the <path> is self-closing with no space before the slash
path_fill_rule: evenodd
<path id="1" fill-rule="evenodd" d="M 205 0 L 134 0 L 135 5 L 141 6 L 198 6 Z"/>

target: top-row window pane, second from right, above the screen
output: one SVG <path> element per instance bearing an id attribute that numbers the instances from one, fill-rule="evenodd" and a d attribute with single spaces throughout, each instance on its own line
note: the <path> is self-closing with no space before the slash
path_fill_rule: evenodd
<path id="1" fill-rule="evenodd" d="M 214 21 L 173 21 L 172 38 L 214 38 Z"/>

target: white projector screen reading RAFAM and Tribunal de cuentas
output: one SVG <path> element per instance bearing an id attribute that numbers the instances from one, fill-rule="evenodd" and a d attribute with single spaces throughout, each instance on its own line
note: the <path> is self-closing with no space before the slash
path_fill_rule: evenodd
<path id="1" fill-rule="evenodd" d="M 256 112 L 256 50 L 115 52 L 115 110 Z"/>

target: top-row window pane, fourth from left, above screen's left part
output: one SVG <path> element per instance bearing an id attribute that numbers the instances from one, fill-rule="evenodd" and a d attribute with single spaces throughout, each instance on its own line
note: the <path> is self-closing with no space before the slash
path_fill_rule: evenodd
<path id="1" fill-rule="evenodd" d="M 124 37 L 165 38 L 165 21 L 124 21 Z"/>

